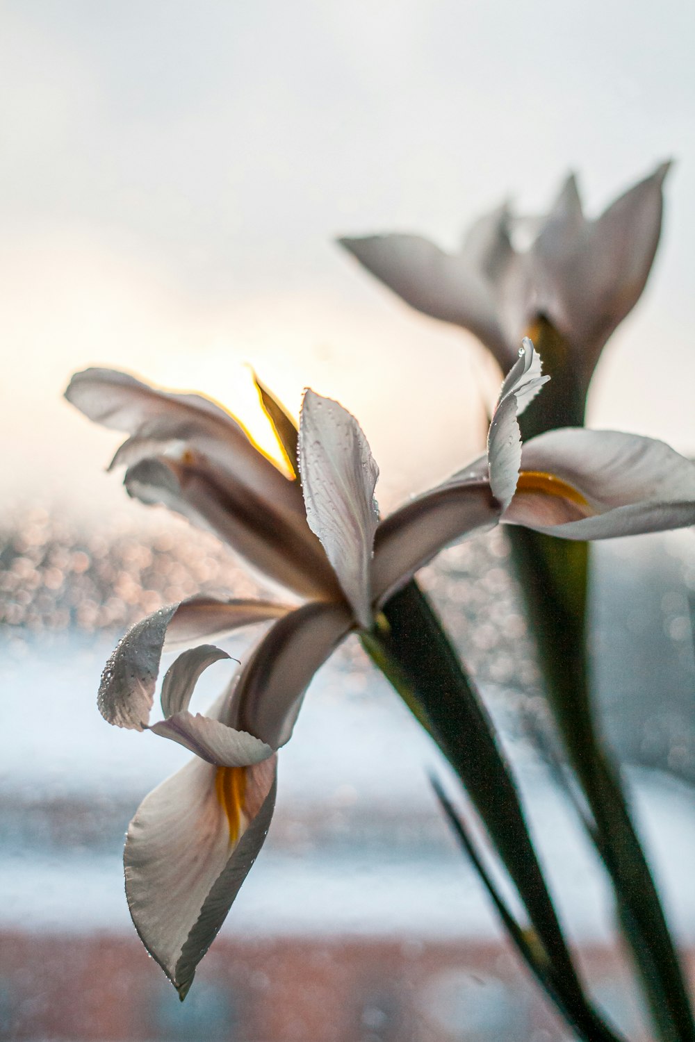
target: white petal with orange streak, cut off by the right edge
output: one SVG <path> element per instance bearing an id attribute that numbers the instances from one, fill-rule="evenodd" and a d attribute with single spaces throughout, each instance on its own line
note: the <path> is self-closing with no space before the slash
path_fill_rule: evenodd
<path id="1" fill-rule="evenodd" d="M 695 464 L 663 442 L 563 428 L 522 451 L 503 521 L 564 539 L 611 539 L 695 524 Z"/>

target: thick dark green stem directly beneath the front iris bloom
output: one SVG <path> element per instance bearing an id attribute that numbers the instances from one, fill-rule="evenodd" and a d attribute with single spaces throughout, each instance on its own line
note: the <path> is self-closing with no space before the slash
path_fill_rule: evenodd
<path id="1" fill-rule="evenodd" d="M 587 1042 L 615 1040 L 584 994 L 506 760 L 439 619 L 414 581 L 383 615 L 388 625 L 363 643 L 464 783 L 526 908 L 541 958 L 562 982 L 566 1018 Z"/>

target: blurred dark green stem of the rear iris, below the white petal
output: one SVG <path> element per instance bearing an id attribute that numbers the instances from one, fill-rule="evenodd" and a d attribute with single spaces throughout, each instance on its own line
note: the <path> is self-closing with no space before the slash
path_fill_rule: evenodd
<path id="1" fill-rule="evenodd" d="M 510 534 L 550 708 L 591 808 L 592 837 L 613 882 L 654 1027 L 664 1042 L 694 1042 L 688 990 L 659 893 L 594 721 L 585 653 L 588 548 L 522 528 Z"/>

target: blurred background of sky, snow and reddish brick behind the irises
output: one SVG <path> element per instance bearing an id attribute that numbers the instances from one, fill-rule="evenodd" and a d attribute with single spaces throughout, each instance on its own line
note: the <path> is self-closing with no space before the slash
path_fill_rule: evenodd
<path id="1" fill-rule="evenodd" d="M 88 365 L 122 368 L 215 396 L 263 439 L 247 366 L 293 411 L 312 386 L 359 418 L 388 510 L 478 451 L 499 373 L 334 237 L 453 248 L 504 198 L 545 210 L 569 170 L 595 216 L 673 156 L 656 263 L 589 422 L 695 453 L 695 9 L 5 0 L 0 27 L 0 1039 L 564 1038 L 447 835 L 435 750 L 349 644 L 312 688 L 268 845 L 179 1006 L 134 938 L 120 848 L 184 754 L 107 727 L 94 694 L 146 612 L 256 588 L 212 538 L 127 500 L 104 473 L 118 436 L 61 392 Z M 529 738 L 542 700 L 506 557 L 495 534 L 423 580 L 503 728 L 598 1000 L 637 1037 L 600 873 Z M 595 559 L 605 726 L 690 946 L 693 536 Z"/>

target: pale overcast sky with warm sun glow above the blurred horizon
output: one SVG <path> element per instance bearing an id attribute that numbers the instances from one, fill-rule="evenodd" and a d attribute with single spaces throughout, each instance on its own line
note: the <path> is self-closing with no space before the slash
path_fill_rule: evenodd
<path id="1" fill-rule="evenodd" d="M 115 445 L 59 398 L 127 368 L 238 408 L 244 362 L 359 418 L 393 501 L 462 464 L 494 384 L 333 245 L 453 247 L 569 169 L 597 213 L 660 160 L 663 244 L 592 392 L 594 425 L 695 451 L 695 7 L 689 0 L 5 0 L 0 479 L 110 508 Z M 492 383 L 491 383 L 492 379 Z"/>

